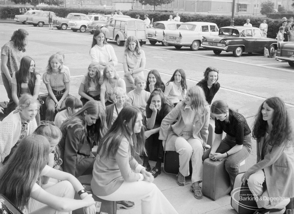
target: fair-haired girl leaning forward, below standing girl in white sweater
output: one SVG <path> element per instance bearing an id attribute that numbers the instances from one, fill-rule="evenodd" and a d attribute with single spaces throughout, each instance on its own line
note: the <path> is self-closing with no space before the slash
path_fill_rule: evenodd
<path id="1" fill-rule="evenodd" d="M 92 62 L 88 67 L 88 73 L 83 76 L 78 94 L 81 95 L 83 105 L 89 100 L 100 101 L 100 65 Z"/>

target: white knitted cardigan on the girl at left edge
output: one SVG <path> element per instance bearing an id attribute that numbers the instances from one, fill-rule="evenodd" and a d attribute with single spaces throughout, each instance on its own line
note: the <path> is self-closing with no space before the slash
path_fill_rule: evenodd
<path id="1" fill-rule="evenodd" d="M 37 128 L 36 119 L 27 125 L 27 134 L 32 134 Z M 21 131 L 21 118 L 17 110 L 12 111 L 0 123 L 0 162 L 10 154 L 11 148 L 17 143 Z"/>

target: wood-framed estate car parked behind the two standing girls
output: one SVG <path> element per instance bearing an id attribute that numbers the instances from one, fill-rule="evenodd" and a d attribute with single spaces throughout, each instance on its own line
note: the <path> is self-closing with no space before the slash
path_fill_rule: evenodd
<path id="1" fill-rule="evenodd" d="M 148 41 L 147 27 L 143 20 L 117 17 L 110 21 L 107 28 L 103 27 L 106 39 L 116 40 L 118 46 L 122 46 L 129 36 L 135 36 L 140 41 L 140 45 Z"/>

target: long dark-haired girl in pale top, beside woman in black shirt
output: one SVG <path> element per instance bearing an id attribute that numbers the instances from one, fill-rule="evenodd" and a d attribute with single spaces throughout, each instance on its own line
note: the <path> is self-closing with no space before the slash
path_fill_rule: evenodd
<path id="1" fill-rule="evenodd" d="M 169 98 L 176 106 L 178 102 L 185 99 L 187 93 L 186 74 L 183 69 L 175 70 L 171 80 L 166 83 L 164 96 Z"/>

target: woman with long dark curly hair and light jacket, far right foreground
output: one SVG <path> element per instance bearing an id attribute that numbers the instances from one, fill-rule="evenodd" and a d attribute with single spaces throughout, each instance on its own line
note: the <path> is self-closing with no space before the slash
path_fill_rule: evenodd
<path id="1" fill-rule="evenodd" d="M 284 213 L 294 197 L 292 133 L 285 103 L 278 97 L 266 99 L 258 110 L 252 131 L 257 144 L 257 163 L 241 178 L 244 184 L 248 181 L 250 191 L 258 199 L 255 199 L 258 207 L 265 208 L 263 213 Z"/>

